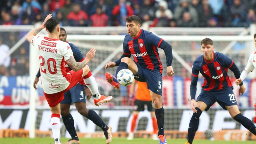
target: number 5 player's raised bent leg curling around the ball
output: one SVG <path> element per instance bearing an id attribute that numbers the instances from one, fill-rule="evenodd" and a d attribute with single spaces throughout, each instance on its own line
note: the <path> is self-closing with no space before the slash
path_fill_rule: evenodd
<path id="1" fill-rule="evenodd" d="M 137 65 L 131 58 L 128 58 L 128 57 L 124 57 L 121 59 L 120 65 L 116 69 L 116 76 L 117 76 L 118 72 L 122 69 L 130 69 L 134 75 L 138 74 Z M 120 84 L 118 83 L 115 76 L 113 76 L 112 74 L 107 72 L 105 74 L 105 77 L 106 77 L 108 83 L 111 84 L 116 90 L 118 90 L 120 88 Z"/>

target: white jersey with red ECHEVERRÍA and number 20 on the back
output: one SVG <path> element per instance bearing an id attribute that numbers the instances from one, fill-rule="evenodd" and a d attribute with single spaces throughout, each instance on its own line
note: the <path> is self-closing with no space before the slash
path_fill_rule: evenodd
<path id="1" fill-rule="evenodd" d="M 52 94 L 65 90 L 70 83 L 65 78 L 68 73 L 64 62 L 73 58 L 69 44 L 45 36 L 34 36 L 31 43 L 37 50 L 44 92 Z"/>

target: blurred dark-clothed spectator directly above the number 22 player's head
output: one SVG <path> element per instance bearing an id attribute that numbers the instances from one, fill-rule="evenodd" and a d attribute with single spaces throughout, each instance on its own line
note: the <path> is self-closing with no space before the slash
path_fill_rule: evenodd
<path id="1" fill-rule="evenodd" d="M 212 8 L 208 0 L 203 0 L 202 5 L 198 7 L 199 27 L 207 27 L 207 22 L 213 17 Z"/>

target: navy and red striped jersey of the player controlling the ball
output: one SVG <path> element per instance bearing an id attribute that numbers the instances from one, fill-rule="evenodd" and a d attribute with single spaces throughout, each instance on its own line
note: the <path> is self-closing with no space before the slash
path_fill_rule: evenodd
<path id="1" fill-rule="evenodd" d="M 139 35 L 135 38 L 130 35 L 125 36 L 124 54 L 132 54 L 134 61 L 142 68 L 158 70 L 162 74 L 163 65 L 157 49 L 162 41 L 162 38 L 140 29 Z"/>

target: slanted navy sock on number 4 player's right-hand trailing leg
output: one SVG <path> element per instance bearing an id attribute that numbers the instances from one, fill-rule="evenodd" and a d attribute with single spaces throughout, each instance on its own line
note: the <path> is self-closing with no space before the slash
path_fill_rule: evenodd
<path id="1" fill-rule="evenodd" d="M 89 109 L 88 114 L 85 117 L 99 126 L 104 132 L 108 131 L 108 126 L 103 122 L 103 120 L 94 110 Z"/>

